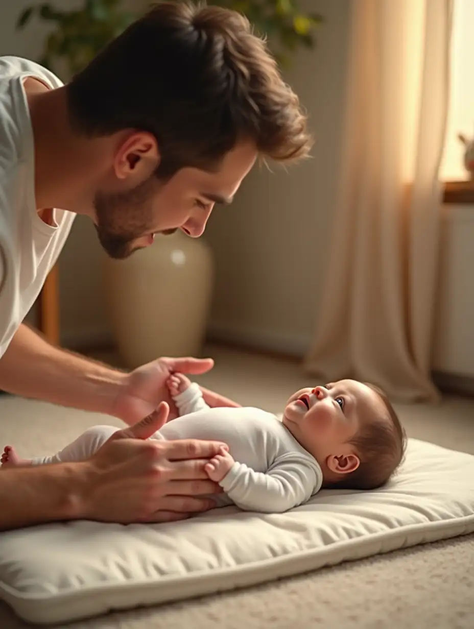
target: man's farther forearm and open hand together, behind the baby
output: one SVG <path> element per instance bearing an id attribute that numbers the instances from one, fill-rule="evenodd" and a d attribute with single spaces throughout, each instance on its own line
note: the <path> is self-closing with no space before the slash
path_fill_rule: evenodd
<path id="1" fill-rule="evenodd" d="M 44 401 L 113 415 L 133 425 L 153 413 L 158 404 L 171 406 L 166 387 L 174 372 L 203 374 L 212 359 L 160 358 L 122 373 L 107 365 L 53 347 L 44 338 L 21 325 L 0 358 L 0 389 Z M 211 406 L 239 406 L 217 393 L 202 389 Z"/>

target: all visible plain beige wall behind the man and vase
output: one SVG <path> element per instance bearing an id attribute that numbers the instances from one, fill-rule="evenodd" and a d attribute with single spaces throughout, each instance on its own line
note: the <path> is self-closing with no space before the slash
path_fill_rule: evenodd
<path id="1" fill-rule="evenodd" d="M 44 27 L 13 23 L 29 0 L 1 3 L 0 54 L 36 58 Z M 57 3 L 60 4 L 60 3 Z M 69 0 L 62 0 L 71 6 Z M 318 47 L 293 58 L 288 81 L 310 115 L 313 159 L 273 175 L 254 172 L 232 209 L 218 209 L 207 240 L 217 263 L 210 330 L 220 338 L 304 352 L 320 302 L 336 193 L 349 3 L 306 0 L 327 22 Z M 84 254 L 87 255 L 84 255 Z M 62 339 L 108 340 L 102 253 L 94 228 L 79 217 L 60 259 Z"/>

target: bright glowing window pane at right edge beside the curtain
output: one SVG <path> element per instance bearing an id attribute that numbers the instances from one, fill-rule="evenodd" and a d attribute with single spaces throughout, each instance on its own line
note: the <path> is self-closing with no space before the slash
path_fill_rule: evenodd
<path id="1" fill-rule="evenodd" d="M 442 181 L 468 179 L 464 168 L 463 133 L 474 139 L 474 1 L 454 0 L 451 33 L 451 77 L 448 122 L 440 177 Z"/>

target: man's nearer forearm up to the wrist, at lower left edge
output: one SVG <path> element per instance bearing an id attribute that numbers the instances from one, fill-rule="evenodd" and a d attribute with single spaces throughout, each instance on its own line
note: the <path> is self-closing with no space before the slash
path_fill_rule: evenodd
<path id="1" fill-rule="evenodd" d="M 85 517 L 87 464 L 0 471 L 0 530 Z"/>

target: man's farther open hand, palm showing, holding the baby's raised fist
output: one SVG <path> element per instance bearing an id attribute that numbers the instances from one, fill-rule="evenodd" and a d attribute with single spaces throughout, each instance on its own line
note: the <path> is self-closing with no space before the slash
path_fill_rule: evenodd
<path id="1" fill-rule="evenodd" d="M 172 400 L 167 380 L 174 372 L 183 374 L 205 374 L 212 369 L 212 359 L 160 358 L 150 362 L 125 377 L 115 399 L 111 415 L 125 421 L 129 426 L 154 413 L 161 402 L 169 406 L 169 420 L 178 417 L 178 409 Z M 239 406 L 230 399 L 201 387 L 209 406 Z"/>

